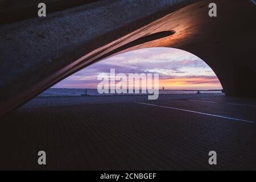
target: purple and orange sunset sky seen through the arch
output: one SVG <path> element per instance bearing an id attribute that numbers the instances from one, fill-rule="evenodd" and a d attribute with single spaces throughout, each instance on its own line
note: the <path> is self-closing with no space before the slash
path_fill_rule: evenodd
<path id="1" fill-rule="evenodd" d="M 199 57 L 174 48 L 145 48 L 90 65 L 52 88 L 97 88 L 99 73 L 159 73 L 159 88 L 222 89 L 212 69 Z"/>

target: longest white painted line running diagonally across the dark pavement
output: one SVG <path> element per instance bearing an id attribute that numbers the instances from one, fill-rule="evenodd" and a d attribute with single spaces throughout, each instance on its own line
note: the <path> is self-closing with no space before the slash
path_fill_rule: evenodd
<path id="1" fill-rule="evenodd" d="M 225 117 L 225 116 L 222 116 L 222 115 L 201 113 L 201 112 L 193 111 L 193 110 L 179 109 L 179 108 L 168 107 L 168 106 L 159 106 L 159 105 L 155 105 L 155 104 L 147 104 L 147 103 L 144 103 L 144 102 L 136 102 L 136 101 L 134 101 L 134 102 L 137 103 L 137 104 L 144 104 L 144 105 L 148 105 L 148 106 L 156 106 L 156 107 L 163 107 L 163 108 L 167 108 L 167 109 L 182 110 L 182 111 L 187 111 L 187 112 L 190 112 L 190 113 L 210 115 L 210 116 L 218 117 L 218 118 L 232 119 L 232 120 L 235 120 L 235 121 L 242 121 L 242 122 L 247 122 L 247 123 L 255 123 L 254 121 L 249 121 L 249 120 L 245 120 L 245 119 L 238 119 L 238 118 L 231 118 L 231 117 Z"/>

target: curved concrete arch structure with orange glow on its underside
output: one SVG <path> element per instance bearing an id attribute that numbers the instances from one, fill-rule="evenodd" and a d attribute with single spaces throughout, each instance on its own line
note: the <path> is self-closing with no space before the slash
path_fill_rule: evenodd
<path id="1" fill-rule="evenodd" d="M 228 96 L 255 96 L 255 5 L 217 0 L 210 18 L 210 2 L 99 1 L 2 25 L 0 113 L 96 61 L 146 47 L 191 52 Z"/>

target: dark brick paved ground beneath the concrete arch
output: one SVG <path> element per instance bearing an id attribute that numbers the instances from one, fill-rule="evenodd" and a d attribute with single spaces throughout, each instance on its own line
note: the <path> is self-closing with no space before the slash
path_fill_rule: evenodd
<path id="1" fill-rule="evenodd" d="M 134 101 L 256 120 L 255 100 L 221 94 L 37 97 L 0 118 L 0 169 L 256 169 L 255 123 Z"/>

